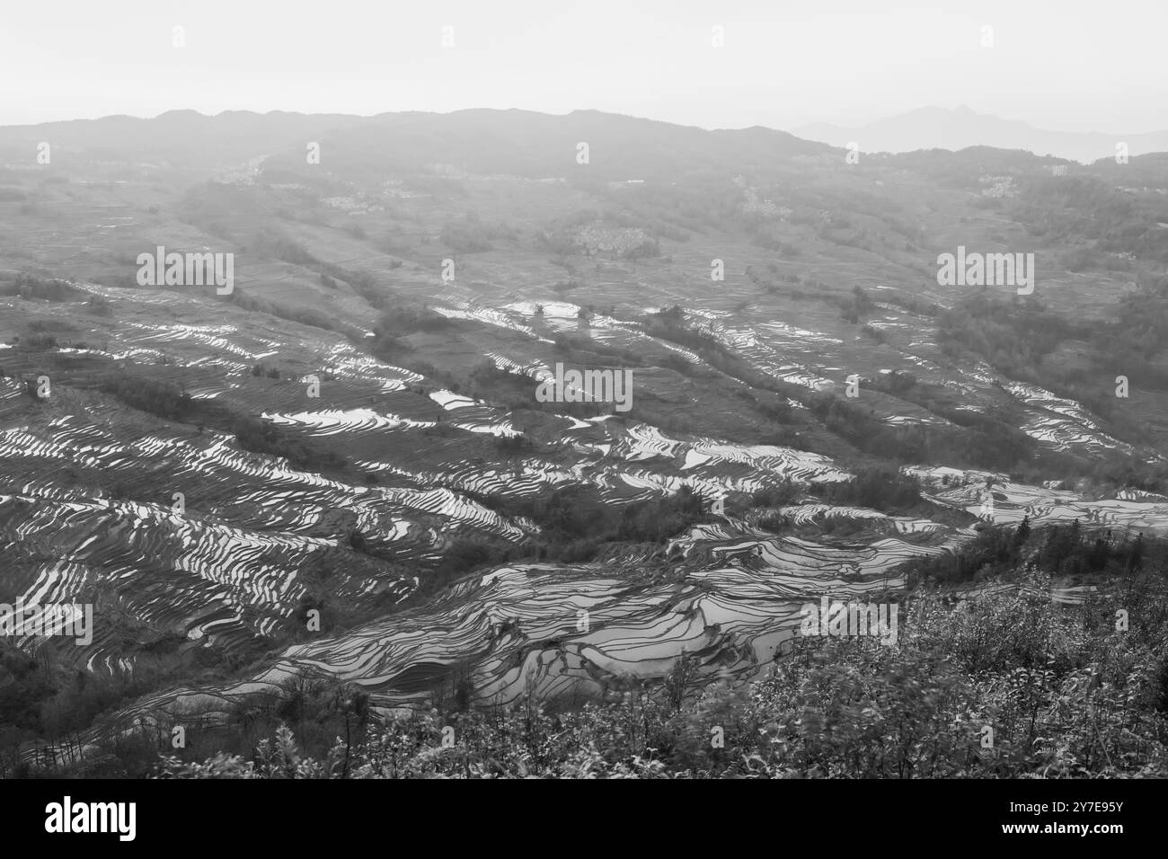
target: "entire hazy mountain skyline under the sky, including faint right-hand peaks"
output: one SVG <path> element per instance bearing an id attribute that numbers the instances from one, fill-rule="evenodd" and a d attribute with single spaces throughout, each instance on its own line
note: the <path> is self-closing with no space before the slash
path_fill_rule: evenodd
<path id="1" fill-rule="evenodd" d="M 340 139 L 339 139 L 340 138 Z M 1168 152 L 1168 130 L 1142 134 L 1045 131 L 1023 122 L 976 113 L 968 108 L 922 108 L 868 125 L 846 129 L 813 123 L 790 132 L 755 126 L 704 131 L 628 116 L 578 110 L 549 116 L 520 110 L 453 113 L 382 113 L 373 117 L 225 111 L 204 116 L 175 110 L 153 119 L 111 116 L 41 125 L 0 126 L 0 161 L 20 160 L 49 141 L 61 153 L 90 160 L 166 161 L 194 167 L 246 161 L 305 140 L 328 139 L 338 160 L 350 166 L 405 167 L 450 162 L 475 172 L 528 176 L 562 175 L 576 165 L 586 141 L 592 171 L 605 179 L 666 178 L 695 165 L 758 164 L 776 157 L 821 157 L 828 146 L 855 143 L 861 152 L 958 151 L 968 147 L 1021 150 L 1090 164 L 1115 155 Z M 565 160 L 564 153 L 568 153 Z M 335 162 L 334 162 L 335 166 Z"/>

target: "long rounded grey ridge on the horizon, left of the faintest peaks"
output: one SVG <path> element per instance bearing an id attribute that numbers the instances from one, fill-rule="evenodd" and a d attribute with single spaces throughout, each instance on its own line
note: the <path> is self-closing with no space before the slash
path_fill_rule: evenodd
<path id="1" fill-rule="evenodd" d="M 785 131 L 751 127 L 705 131 L 651 119 L 578 110 L 551 116 L 521 110 L 453 113 L 381 113 L 373 117 L 273 111 L 225 111 L 204 116 L 168 111 L 153 119 L 112 116 L 42 125 L 0 126 L 0 162 L 32 160 L 50 143 L 62 165 L 83 160 L 166 162 L 206 167 L 283 153 L 281 164 L 303 165 L 308 141 L 320 141 L 331 169 L 413 169 L 452 165 L 472 173 L 527 178 L 579 174 L 578 147 L 589 146 L 590 174 L 598 179 L 660 179 L 799 155 L 825 157 L 830 147 Z"/>

